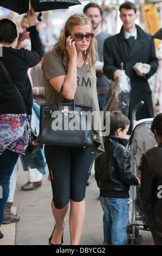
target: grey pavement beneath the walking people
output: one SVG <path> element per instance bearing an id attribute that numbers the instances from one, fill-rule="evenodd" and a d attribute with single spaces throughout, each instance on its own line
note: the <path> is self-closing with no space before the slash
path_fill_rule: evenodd
<path id="1" fill-rule="evenodd" d="M 28 181 L 28 173 L 22 170 L 21 163 L 19 166 L 14 206 L 17 206 L 17 213 L 21 216 L 21 220 L 16 224 L 16 228 L 15 223 L 3 225 L 3 229 L 1 227 L 4 238 L 0 240 L 0 245 L 12 245 L 14 241 L 15 245 L 48 245 L 48 237 L 55 225 L 50 207 L 52 190 L 47 180 L 48 169 L 46 168 L 47 174 L 43 176 L 40 188 L 34 191 L 21 191 L 21 186 Z M 86 220 L 80 245 L 102 245 L 103 212 L 99 200 L 99 188 L 94 179 L 94 170 L 89 182 L 90 185 L 86 189 Z M 64 220 L 63 245 L 70 244 L 68 218 L 69 209 Z M 143 245 L 153 245 L 150 232 L 140 231 L 140 234 L 143 236 Z"/>

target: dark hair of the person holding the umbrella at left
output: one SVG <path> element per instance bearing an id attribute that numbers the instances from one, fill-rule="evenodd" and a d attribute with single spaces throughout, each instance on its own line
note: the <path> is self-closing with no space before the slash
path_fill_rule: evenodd
<path id="1" fill-rule="evenodd" d="M 8 19 L 0 20 L 0 42 L 12 44 L 17 38 L 17 28 L 14 22 Z"/>

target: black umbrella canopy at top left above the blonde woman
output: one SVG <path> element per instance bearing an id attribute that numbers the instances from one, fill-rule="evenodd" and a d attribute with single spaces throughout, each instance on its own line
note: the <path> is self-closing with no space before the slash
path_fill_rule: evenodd
<path id="1" fill-rule="evenodd" d="M 81 3 L 77 0 L 31 0 L 31 5 L 36 13 L 38 11 L 67 9 L 76 4 Z M 29 10 L 29 0 L 0 0 L 0 6 L 18 14 L 24 14 Z"/>

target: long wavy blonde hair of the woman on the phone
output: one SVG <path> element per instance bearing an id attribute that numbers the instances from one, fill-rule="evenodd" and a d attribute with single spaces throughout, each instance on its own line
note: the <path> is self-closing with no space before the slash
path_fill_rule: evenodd
<path id="1" fill-rule="evenodd" d="M 70 35 L 70 32 L 73 30 L 73 28 L 78 25 L 79 26 L 89 25 L 90 33 L 93 33 L 92 25 L 88 17 L 85 14 L 74 14 L 68 18 L 66 24 L 64 25 L 63 36 L 60 41 L 60 44 L 53 49 L 53 51 L 57 52 L 61 57 L 66 71 L 68 70 L 68 63 L 69 63 L 69 54 L 66 50 L 66 38 Z M 83 59 L 85 60 L 85 62 L 88 63 L 90 72 L 92 73 L 94 78 L 96 77 L 95 69 L 94 69 L 94 64 L 96 60 L 96 49 L 97 49 L 97 41 L 96 39 L 93 39 L 92 41 L 90 41 L 87 51 L 82 52 Z"/>

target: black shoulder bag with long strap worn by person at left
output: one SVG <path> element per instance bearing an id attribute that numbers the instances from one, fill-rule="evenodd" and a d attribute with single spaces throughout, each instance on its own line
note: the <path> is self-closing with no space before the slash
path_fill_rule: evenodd
<path id="1" fill-rule="evenodd" d="M 29 120 L 29 117 L 28 117 L 28 110 L 27 110 L 27 106 L 24 102 L 24 99 L 20 93 L 20 90 L 18 90 L 17 86 L 16 86 L 16 83 L 14 82 L 14 80 L 12 80 L 9 72 L 7 71 L 7 69 L 5 68 L 2 60 L 0 59 L 0 64 L 5 72 L 5 75 L 7 76 L 7 78 L 9 79 L 10 83 L 15 87 L 15 89 L 17 90 L 17 93 L 20 95 L 21 99 L 22 99 L 22 102 L 24 103 L 24 106 L 25 106 L 25 111 L 27 113 L 27 118 Z M 28 144 L 28 147 L 27 147 L 27 150 L 25 151 L 25 155 L 31 155 L 33 153 L 35 153 L 36 151 L 40 150 L 43 148 L 43 144 L 40 144 L 36 141 L 37 139 L 37 135 L 31 130 L 31 127 L 30 127 L 30 140 L 29 140 L 29 144 Z"/>

